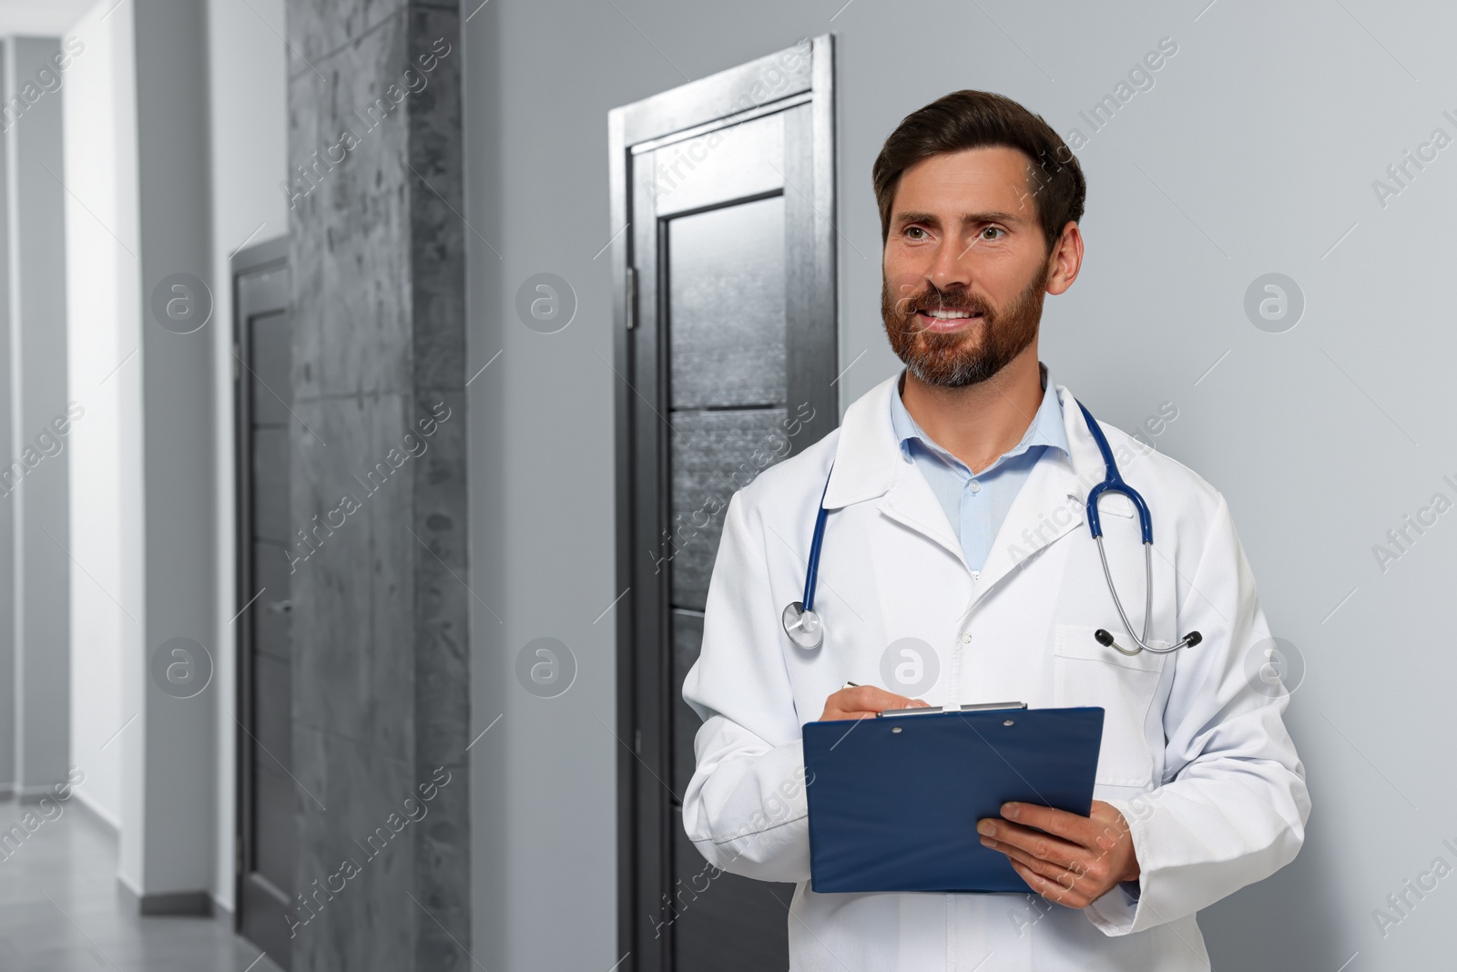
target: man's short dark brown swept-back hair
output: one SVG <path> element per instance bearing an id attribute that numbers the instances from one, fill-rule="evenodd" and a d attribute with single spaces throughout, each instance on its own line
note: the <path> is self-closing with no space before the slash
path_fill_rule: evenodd
<path id="1" fill-rule="evenodd" d="M 1029 195 L 1037 207 L 1048 252 L 1052 252 L 1062 227 L 1083 219 L 1087 198 L 1083 166 L 1042 115 L 1004 95 L 973 90 L 951 92 L 911 112 L 886 138 L 873 169 L 881 245 L 890 236 L 890 204 L 902 172 L 931 156 L 991 146 L 1027 156 Z"/>

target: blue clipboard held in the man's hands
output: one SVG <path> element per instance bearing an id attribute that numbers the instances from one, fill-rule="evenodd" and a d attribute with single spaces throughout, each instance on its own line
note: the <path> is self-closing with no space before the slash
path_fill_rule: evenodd
<path id="1" fill-rule="evenodd" d="M 816 893 L 1029 893 L 976 820 L 1008 800 L 1087 816 L 1103 710 L 896 714 L 803 733 Z"/>

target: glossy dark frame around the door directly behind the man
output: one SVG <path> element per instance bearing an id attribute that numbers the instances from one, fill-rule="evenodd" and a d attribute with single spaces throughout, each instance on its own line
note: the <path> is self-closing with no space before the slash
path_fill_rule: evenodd
<path id="1" fill-rule="evenodd" d="M 634 232 L 628 230 L 628 223 L 634 211 L 634 192 L 637 187 L 631 184 L 632 156 L 635 150 L 648 147 L 648 143 L 673 137 L 692 137 L 694 130 L 710 130 L 726 119 L 747 121 L 777 109 L 785 108 L 784 102 L 810 103 L 812 128 L 812 165 L 810 171 L 798 175 L 809 175 L 809 195 L 804 201 L 816 213 L 814 227 L 810 239 L 801 240 L 813 249 L 814 280 L 787 281 L 790 291 L 791 328 L 796 319 L 809 321 L 807 332 L 810 338 L 798 344 L 791 340 L 790 358 L 787 361 L 793 375 L 806 379 L 806 385 L 817 391 L 812 398 L 816 414 L 820 417 L 819 434 L 828 433 L 839 421 L 838 382 L 839 360 L 839 321 L 838 321 L 838 277 L 836 277 L 836 248 L 838 233 L 835 219 L 835 102 L 833 102 L 833 36 L 822 34 L 806 38 L 810 42 L 810 63 L 807 70 L 793 71 L 782 87 L 772 90 L 772 96 L 761 93 L 763 79 L 775 68 L 775 61 L 793 52 L 798 44 L 756 58 L 746 64 L 711 74 L 680 87 L 653 95 L 643 101 L 615 108 L 608 115 L 608 144 L 609 144 L 609 195 L 612 230 L 616 233 L 610 243 L 612 249 L 612 322 L 613 322 L 613 357 L 621 380 L 613 385 L 613 421 L 616 430 L 616 468 L 613 485 L 616 490 L 616 590 L 619 595 L 616 612 L 616 734 L 624 753 L 618 749 L 618 950 L 625 952 L 624 972 L 666 972 L 672 968 L 672 955 L 667 952 L 672 934 L 664 936 L 656 947 L 647 947 L 638 940 L 638 930 L 644 909 L 651 914 L 661 895 L 672 887 L 669 863 L 672 861 L 673 834 L 667 829 L 669 820 L 650 820 L 647 826 L 640 820 L 640 793 L 644 788 L 644 777 L 651 772 L 638 753 L 661 753 L 669 745 L 667 717 L 672 711 L 672 699 L 667 705 L 659 705 L 664 682 L 672 691 L 667 667 L 672 662 L 672 646 L 669 632 L 660 630 L 654 614 L 643 609 L 640 596 L 627 596 L 635 583 L 637 557 L 635 551 L 644 538 L 638 533 L 644 530 L 640 510 L 644 506 L 664 510 L 667 503 L 669 484 L 667 463 L 659 456 L 651 460 L 637 462 L 637 409 L 643 407 L 638 401 L 637 376 L 634 361 L 640 348 L 637 341 L 641 334 L 637 331 L 638 294 L 635 275 L 629 275 L 634 267 Z M 782 64 L 782 61 L 779 61 Z M 779 68 L 782 73 L 782 68 Z M 736 106 L 739 109 L 736 109 Z M 685 133 L 691 133 L 685 136 Z M 800 192 L 797 185 L 791 185 L 785 178 L 785 194 Z M 659 275 L 660 277 L 660 275 Z M 804 293 L 813 293 L 816 299 L 801 300 Z M 657 299 L 657 294 L 650 294 Z M 657 334 L 653 335 L 654 338 Z M 647 338 L 644 338 L 647 340 Z M 663 344 L 657 348 L 645 348 L 644 353 L 656 354 L 660 370 L 666 369 L 663 360 Z M 661 389 L 666 383 L 659 385 Z M 666 402 L 648 404 L 657 411 Z M 806 436 L 803 444 L 809 444 L 817 434 Z M 798 447 L 803 447 L 800 444 Z M 796 447 L 796 452 L 798 450 Z M 643 503 L 638 490 L 648 490 L 651 501 Z M 656 538 L 654 538 L 656 539 Z M 666 586 L 667 573 L 660 584 Z M 651 599 L 653 603 L 666 603 L 666 592 L 661 597 Z M 661 614 L 657 611 L 656 614 Z M 651 630 L 648 630 L 651 628 Z M 657 651 L 663 662 L 656 672 L 640 670 L 638 650 L 641 638 L 654 638 L 660 646 Z M 666 650 L 664 650 L 666 648 Z M 650 855 L 657 867 L 640 867 L 644 851 L 656 844 L 656 854 Z"/>

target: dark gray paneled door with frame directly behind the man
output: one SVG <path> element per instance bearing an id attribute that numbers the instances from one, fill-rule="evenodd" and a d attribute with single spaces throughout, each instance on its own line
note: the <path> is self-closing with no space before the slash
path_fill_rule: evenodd
<path id="1" fill-rule="evenodd" d="M 619 408 L 631 587 L 619 651 L 631 654 L 622 708 L 635 748 L 624 950 L 638 969 L 788 968 L 794 886 L 720 873 L 683 834 L 699 720 L 682 685 L 728 498 L 838 418 L 828 38 L 814 47 L 820 79 L 807 42 L 790 51 L 800 57 L 769 55 L 616 117 L 631 213 L 619 361 L 634 389 Z M 782 96 L 762 95 L 769 77 Z M 724 106 L 740 111 L 698 121 Z M 654 121 L 670 130 L 628 140 L 634 122 L 647 134 Z"/>

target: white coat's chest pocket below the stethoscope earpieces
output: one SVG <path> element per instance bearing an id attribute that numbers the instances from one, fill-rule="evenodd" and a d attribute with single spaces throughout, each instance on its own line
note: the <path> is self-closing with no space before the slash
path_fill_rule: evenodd
<path id="1" fill-rule="evenodd" d="M 1096 628 L 1059 624 L 1053 643 L 1053 698 L 1059 707 L 1103 708 L 1097 783 L 1147 787 L 1154 756 L 1144 726 L 1164 667 L 1160 654 L 1123 654 L 1093 637 Z"/>

